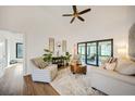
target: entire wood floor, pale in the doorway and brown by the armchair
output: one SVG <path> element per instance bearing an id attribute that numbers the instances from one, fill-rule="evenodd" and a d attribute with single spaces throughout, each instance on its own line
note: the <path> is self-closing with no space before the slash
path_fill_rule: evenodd
<path id="1" fill-rule="evenodd" d="M 0 78 L 1 96 L 59 96 L 51 85 L 34 83 L 30 75 L 23 77 L 22 73 L 22 65 L 5 70 L 5 74 Z"/>

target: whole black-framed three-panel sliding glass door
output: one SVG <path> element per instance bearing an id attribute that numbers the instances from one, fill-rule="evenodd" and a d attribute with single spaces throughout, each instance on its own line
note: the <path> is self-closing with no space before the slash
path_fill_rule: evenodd
<path id="1" fill-rule="evenodd" d="M 99 66 L 113 56 L 113 39 L 81 42 L 77 47 L 82 62 L 89 65 Z"/>

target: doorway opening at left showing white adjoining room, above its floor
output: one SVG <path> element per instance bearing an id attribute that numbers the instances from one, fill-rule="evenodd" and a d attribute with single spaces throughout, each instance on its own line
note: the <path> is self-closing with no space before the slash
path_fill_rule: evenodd
<path id="1" fill-rule="evenodd" d="M 20 33 L 0 30 L 0 74 L 14 66 L 24 73 L 24 37 Z"/>

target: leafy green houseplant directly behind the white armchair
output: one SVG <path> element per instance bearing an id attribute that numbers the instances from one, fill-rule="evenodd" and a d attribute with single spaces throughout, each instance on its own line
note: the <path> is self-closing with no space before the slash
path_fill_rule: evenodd
<path id="1" fill-rule="evenodd" d="M 48 49 L 45 49 L 44 61 L 51 63 L 52 62 L 52 52 Z"/>

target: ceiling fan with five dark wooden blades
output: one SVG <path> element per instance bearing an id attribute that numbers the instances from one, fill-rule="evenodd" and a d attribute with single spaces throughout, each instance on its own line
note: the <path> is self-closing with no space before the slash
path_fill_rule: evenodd
<path id="1" fill-rule="evenodd" d="M 73 18 L 70 22 L 71 24 L 74 22 L 75 17 L 84 22 L 85 20 L 81 15 L 91 10 L 91 9 L 86 9 L 86 10 L 78 12 L 76 5 L 73 5 L 72 8 L 73 8 L 73 14 L 63 14 L 63 16 L 73 16 Z"/>

